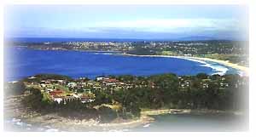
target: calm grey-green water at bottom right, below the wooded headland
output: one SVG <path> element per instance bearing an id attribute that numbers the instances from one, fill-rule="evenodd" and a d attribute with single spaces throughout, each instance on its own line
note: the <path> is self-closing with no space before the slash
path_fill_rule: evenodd
<path id="1" fill-rule="evenodd" d="M 246 131 L 247 118 L 233 114 L 164 114 L 154 122 L 130 131 L 136 132 L 232 132 Z"/>

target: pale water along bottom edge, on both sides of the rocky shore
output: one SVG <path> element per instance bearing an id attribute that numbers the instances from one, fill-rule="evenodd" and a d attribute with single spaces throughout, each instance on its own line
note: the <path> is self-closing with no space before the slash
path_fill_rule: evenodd
<path id="1" fill-rule="evenodd" d="M 128 132 L 234 132 L 247 131 L 247 119 L 233 114 L 193 115 L 164 114 L 154 116 L 154 122 L 133 128 L 108 129 L 86 128 L 87 131 L 128 131 Z M 4 121 L 5 131 L 17 132 L 62 132 L 64 130 L 49 125 L 26 123 L 21 119 L 10 118 Z"/>

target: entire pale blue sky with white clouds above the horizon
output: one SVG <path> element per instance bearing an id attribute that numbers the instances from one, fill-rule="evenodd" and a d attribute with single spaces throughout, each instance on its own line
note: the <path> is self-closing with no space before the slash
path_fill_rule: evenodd
<path id="1" fill-rule="evenodd" d="M 245 5 L 8 5 L 5 37 L 247 38 Z"/>

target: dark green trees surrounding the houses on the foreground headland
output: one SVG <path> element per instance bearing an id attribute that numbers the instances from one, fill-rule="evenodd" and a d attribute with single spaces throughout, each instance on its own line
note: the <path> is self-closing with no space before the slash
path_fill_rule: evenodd
<path id="1" fill-rule="evenodd" d="M 50 76 L 57 79 L 63 77 Z M 124 83 L 133 83 L 133 88 L 120 88 L 112 92 L 95 89 L 92 92 L 96 95 L 96 100 L 85 104 L 80 101 L 58 104 L 53 100 L 44 100 L 44 94 L 38 88 L 26 88 L 30 94 L 26 96 L 24 103 L 43 112 L 57 111 L 61 112 L 61 115 L 69 116 L 73 111 L 83 115 L 102 116 L 103 122 L 116 117 L 139 117 L 141 109 L 144 108 L 241 110 L 247 109 L 248 106 L 248 77 L 239 75 L 209 76 L 199 73 L 196 76 L 182 77 L 161 74 L 150 77 L 125 75 L 115 78 Z M 15 93 L 19 89 L 24 91 L 21 82 L 12 84 L 13 87 L 9 88 Z M 111 109 L 108 105 L 121 107 Z"/>

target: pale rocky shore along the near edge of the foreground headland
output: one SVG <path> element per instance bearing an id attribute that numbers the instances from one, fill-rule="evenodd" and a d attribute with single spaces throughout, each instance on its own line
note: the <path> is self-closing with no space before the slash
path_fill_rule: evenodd
<path id="1" fill-rule="evenodd" d="M 99 123 L 95 119 L 76 120 L 67 117 L 59 117 L 56 114 L 47 114 L 44 116 L 30 117 L 27 119 L 15 118 L 18 123 L 26 123 L 30 127 L 38 126 L 44 128 L 45 131 L 55 130 L 64 132 L 88 132 L 88 131 L 130 131 L 132 128 L 147 126 L 154 122 L 154 116 L 160 115 L 218 115 L 218 114 L 233 114 L 242 115 L 239 111 L 218 111 L 218 110 L 191 110 L 191 109 L 159 109 L 142 111 L 141 117 L 138 119 L 130 119 L 128 122 L 119 123 Z"/>

